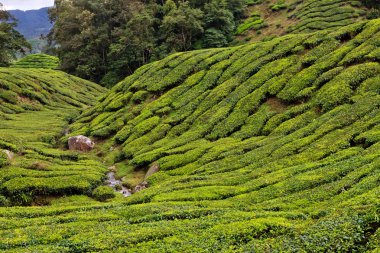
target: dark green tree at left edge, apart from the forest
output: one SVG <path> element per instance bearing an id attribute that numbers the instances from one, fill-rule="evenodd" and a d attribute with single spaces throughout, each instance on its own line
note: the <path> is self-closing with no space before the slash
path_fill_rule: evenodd
<path id="1" fill-rule="evenodd" d="M 31 50 L 24 36 L 15 30 L 16 25 L 15 18 L 0 8 L 0 66 L 9 66 L 18 53 L 25 54 Z"/>

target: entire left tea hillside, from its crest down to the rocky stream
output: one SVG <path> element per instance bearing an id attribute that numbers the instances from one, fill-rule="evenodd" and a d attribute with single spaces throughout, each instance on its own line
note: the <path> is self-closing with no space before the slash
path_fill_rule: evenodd
<path id="1" fill-rule="evenodd" d="M 0 206 L 85 193 L 100 184 L 104 166 L 58 149 L 57 140 L 104 91 L 59 71 L 0 69 Z M 2 150 L 14 158 L 7 161 Z"/>

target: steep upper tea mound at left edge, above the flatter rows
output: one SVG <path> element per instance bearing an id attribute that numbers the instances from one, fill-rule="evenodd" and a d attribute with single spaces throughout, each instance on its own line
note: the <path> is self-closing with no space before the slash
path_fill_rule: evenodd
<path id="1" fill-rule="evenodd" d="M 48 69 L 0 69 L 0 112 L 13 114 L 44 107 L 84 108 L 105 89 Z"/>

